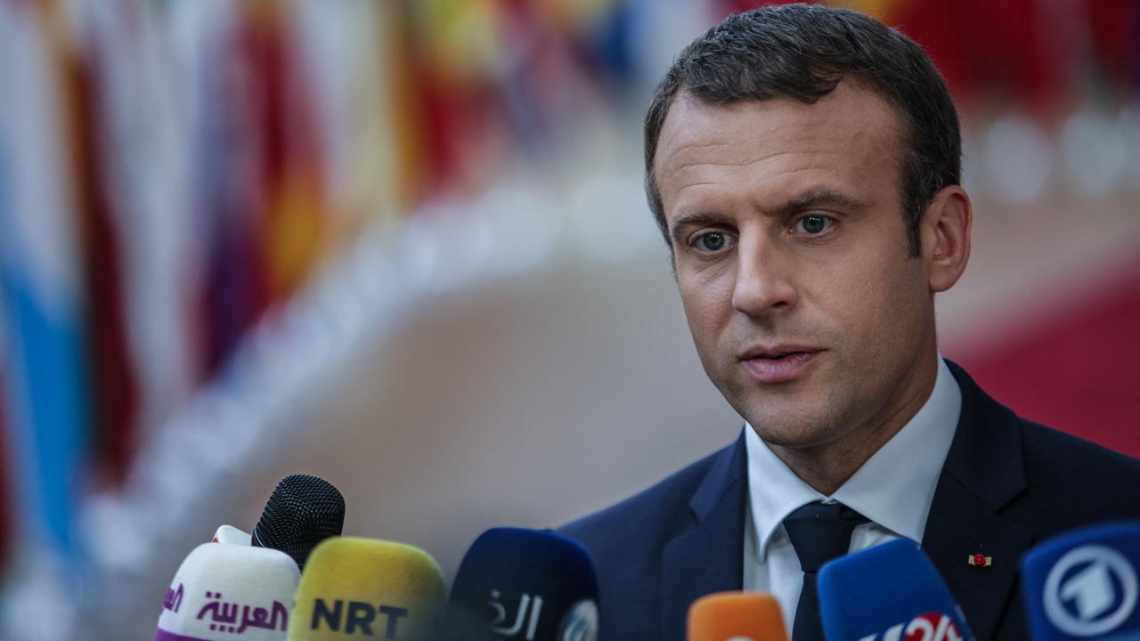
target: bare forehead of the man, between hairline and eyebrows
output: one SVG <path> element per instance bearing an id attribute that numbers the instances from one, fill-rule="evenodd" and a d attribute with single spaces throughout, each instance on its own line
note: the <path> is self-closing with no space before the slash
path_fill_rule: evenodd
<path id="1" fill-rule="evenodd" d="M 902 177 L 901 120 L 886 99 L 847 81 L 813 104 L 773 98 L 715 105 L 678 95 L 653 162 L 666 217 L 684 203 L 712 206 L 709 197 L 760 185 L 756 179 L 782 186 L 765 190 L 771 202 L 758 206 L 780 208 L 785 203 L 775 201 L 817 187 L 874 201 L 872 193 L 894 192 Z"/>

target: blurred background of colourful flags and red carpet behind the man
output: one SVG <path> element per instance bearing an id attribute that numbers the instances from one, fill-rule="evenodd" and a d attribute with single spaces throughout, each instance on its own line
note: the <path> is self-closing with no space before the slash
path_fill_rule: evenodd
<path id="1" fill-rule="evenodd" d="M 0 636 L 148 638 L 292 471 L 450 573 L 730 441 L 641 119 L 755 5 L 0 0 Z M 943 354 L 1140 456 L 1140 2 L 842 5 L 964 120 Z"/>

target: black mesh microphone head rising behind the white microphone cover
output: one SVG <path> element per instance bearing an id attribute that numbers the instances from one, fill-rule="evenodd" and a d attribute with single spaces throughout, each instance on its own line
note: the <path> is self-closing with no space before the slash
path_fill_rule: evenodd
<path id="1" fill-rule="evenodd" d="M 310 474 L 290 474 L 277 484 L 253 526 L 250 543 L 280 550 L 304 568 L 309 552 L 344 527 L 344 497 L 333 484 Z"/>

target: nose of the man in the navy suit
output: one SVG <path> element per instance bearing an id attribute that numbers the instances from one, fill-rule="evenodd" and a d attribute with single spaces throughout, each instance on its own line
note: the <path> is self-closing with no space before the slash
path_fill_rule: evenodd
<path id="1" fill-rule="evenodd" d="M 748 316 L 789 311 L 796 307 L 793 268 L 769 238 L 740 240 L 732 306 Z"/>

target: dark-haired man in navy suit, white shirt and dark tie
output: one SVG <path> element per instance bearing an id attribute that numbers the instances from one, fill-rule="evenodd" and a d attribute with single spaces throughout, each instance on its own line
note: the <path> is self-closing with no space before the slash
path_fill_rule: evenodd
<path id="1" fill-rule="evenodd" d="M 563 529 L 597 565 L 603 640 L 683 639 L 697 598 L 740 589 L 820 639 L 815 567 L 896 537 L 979 639 L 1024 638 L 1020 555 L 1140 517 L 1137 461 L 1019 419 L 938 355 L 972 210 L 953 103 L 907 38 L 820 6 L 732 16 L 661 81 L 645 159 L 701 363 L 747 423 Z"/>

